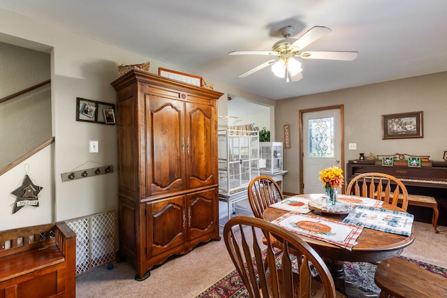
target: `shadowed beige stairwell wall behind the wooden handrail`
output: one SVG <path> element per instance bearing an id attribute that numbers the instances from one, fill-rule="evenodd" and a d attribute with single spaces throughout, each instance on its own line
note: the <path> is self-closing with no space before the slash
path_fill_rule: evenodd
<path id="1" fill-rule="evenodd" d="M 50 54 L 0 43 L 0 98 L 50 80 Z M 0 103 L 0 168 L 49 140 L 50 84 Z"/>

